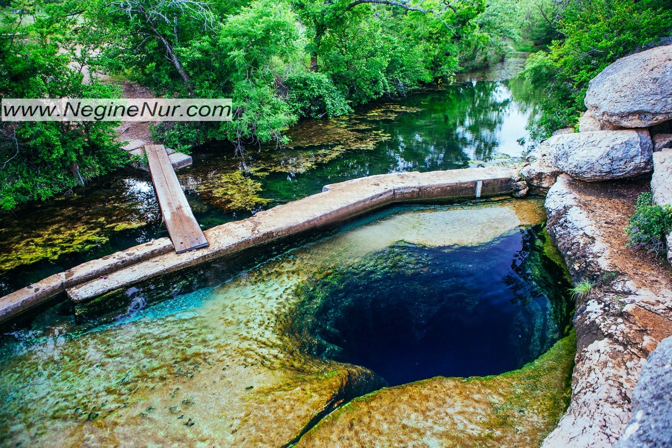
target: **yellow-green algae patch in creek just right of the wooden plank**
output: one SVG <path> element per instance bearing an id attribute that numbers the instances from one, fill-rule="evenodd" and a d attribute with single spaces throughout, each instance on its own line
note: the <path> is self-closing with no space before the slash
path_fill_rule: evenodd
<path id="1" fill-rule="evenodd" d="M 215 205 L 227 212 L 249 211 L 257 206 L 266 206 L 271 199 L 259 197 L 261 183 L 245 177 L 241 171 L 220 174 L 212 182 L 201 184 L 200 193 L 209 193 Z"/>

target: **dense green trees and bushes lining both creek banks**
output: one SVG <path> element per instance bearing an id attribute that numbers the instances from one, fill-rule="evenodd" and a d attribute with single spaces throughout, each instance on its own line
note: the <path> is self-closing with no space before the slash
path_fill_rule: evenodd
<path id="1" fill-rule="evenodd" d="M 2 97 L 118 97 L 103 73 L 168 97 L 231 97 L 233 122 L 162 124 L 185 150 L 278 142 L 302 117 L 347 114 L 460 70 L 538 50 L 541 133 L 573 123 L 585 85 L 665 34 L 672 0 L 0 0 Z M 666 28 L 667 27 L 667 28 Z M 124 163 L 105 122 L 0 124 L 0 208 Z"/>

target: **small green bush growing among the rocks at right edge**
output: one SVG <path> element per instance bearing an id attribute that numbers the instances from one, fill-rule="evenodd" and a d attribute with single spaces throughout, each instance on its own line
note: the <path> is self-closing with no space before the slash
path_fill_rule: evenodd
<path id="1" fill-rule="evenodd" d="M 630 239 L 628 246 L 660 255 L 665 252 L 665 235 L 671 230 L 672 207 L 654 205 L 653 195 L 642 193 L 626 228 Z"/>

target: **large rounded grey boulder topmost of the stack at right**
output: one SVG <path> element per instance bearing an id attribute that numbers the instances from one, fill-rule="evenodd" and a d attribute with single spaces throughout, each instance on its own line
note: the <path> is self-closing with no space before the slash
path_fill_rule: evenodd
<path id="1" fill-rule="evenodd" d="M 621 58 L 590 81 L 585 105 L 599 122 L 646 128 L 672 120 L 672 45 Z"/>

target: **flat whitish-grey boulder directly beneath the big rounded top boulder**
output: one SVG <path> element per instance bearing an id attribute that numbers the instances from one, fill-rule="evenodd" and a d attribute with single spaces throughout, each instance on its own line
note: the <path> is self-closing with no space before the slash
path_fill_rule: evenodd
<path id="1" fill-rule="evenodd" d="M 556 167 L 582 181 L 634 177 L 653 169 L 647 130 L 561 134 L 546 140 Z"/>

